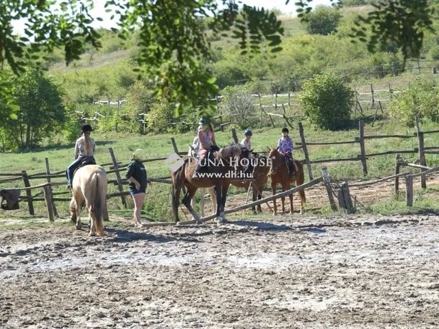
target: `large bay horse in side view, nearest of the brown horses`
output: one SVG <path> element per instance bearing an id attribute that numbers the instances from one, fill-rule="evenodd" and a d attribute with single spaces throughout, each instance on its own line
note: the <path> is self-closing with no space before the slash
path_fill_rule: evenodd
<path id="1" fill-rule="evenodd" d="M 226 205 L 227 191 L 230 186 L 230 176 L 235 172 L 233 164 L 241 158 L 248 158 L 248 149 L 241 147 L 239 144 L 230 145 L 220 149 L 215 153 L 215 162 L 217 162 L 211 171 L 209 176 L 204 175 L 200 177 L 197 175 L 193 177 L 193 173 L 197 167 L 194 161 L 189 162 L 189 159 L 185 159 L 184 164 L 177 171 L 171 173 L 172 179 L 172 210 L 176 221 L 178 219 L 178 205 L 180 203 L 180 191 L 183 184 L 187 188 L 185 197 L 182 199 L 182 203 L 185 204 L 187 210 L 191 212 L 191 215 L 200 223 L 200 217 L 198 217 L 195 210 L 191 206 L 191 200 L 195 192 L 200 187 L 212 187 L 215 186 L 215 194 L 217 197 L 217 223 L 226 222 L 224 215 L 224 208 Z"/>

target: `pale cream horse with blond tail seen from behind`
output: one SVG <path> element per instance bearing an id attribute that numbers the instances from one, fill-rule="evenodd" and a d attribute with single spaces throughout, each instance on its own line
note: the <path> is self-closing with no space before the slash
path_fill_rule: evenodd
<path id="1" fill-rule="evenodd" d="M 97 164 L 89 164 L 78 169 L 72 182 L 73 197 L 70 202 L 71 220 L 76 221 L 76 229 L 81 229 L 81 208 L 86 206 L 88 219 L 91 223 L 90 236 L 96 232 L 104 236 L 102 221 L 107 206 L 107 174 Z M 93 232 L 95 231 L 95 232 Z"/>

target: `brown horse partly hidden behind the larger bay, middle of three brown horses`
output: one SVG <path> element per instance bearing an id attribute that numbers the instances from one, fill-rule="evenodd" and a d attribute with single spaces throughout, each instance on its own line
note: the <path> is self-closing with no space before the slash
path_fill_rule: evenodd
<path id="1" fill-rule="evenodd" d="M 262 199 L 262 190 L 268 181 L 268 172 L 270 171 L 270 164 L 268 158 L 265 156 L 259 156 L 257 158 L 250 159 L 254 162 L 254 169 L 252 173 L 252 179 L 248 180 L 232 180 L 231 184 L 236 187 L 248 188 L 252 184 L 253 201 L 256 199 Z M 256 212 L 254 206 L 253 212 Z M 258 204 L 257 212 L 262 212 L 261 205 Z"/>

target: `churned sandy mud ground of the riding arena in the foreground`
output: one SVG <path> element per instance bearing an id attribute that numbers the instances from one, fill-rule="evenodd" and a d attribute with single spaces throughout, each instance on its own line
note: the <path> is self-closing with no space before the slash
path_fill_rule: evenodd
<path id="1" fill-rule="evenodd" d="M 439 217 L 0 230 L 0 328 L 438 328 Z"/>

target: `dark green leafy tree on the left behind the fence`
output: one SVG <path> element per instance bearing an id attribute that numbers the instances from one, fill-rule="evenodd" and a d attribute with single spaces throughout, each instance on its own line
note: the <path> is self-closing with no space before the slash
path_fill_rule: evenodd
<path id="1" fill-rule="evenodd" d="M 14 147 L 32 147 L 42 138 L 60 132 L 65 121 L 64 106 L 60 90 L 51 78 L 28 66 L 19 77 L 12 78 L 12 84 L 19 111 L 16 120 L 6 119 L 2 127 Z"/>

